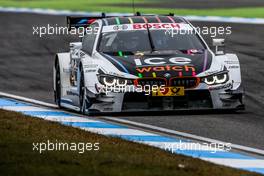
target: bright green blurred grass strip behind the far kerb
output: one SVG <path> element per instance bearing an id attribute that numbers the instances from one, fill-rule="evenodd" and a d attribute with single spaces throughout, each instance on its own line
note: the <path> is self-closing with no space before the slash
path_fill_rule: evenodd
<path id="1" fill-rule="evenodd" d="M 146 0 L 145 0 L 146 1 Z M 116 7 L 114 4 L 127 4 L 131 0 L 0 0 L 3 7 L 29 7 L 29 8 L 52 8 L 68 9 L 73 11 L 96 11 L 96 12 L 132 12 L 130 7 Z M 143 3 L 136 0 L 136 2 Z M 105 4 L 111 3 L 111 6 Z M 150 3 L 144 2 L 144 3 Z M 234 9 L 155 9 L 137 8 L 142 13 L 164 14 L 173 12 L 178 15 L 200 15 L 200 16 L 233 16 L 233 17 L 258 17 L 264 18 L 264 7 L 259 8 L 234 8 Z"/>

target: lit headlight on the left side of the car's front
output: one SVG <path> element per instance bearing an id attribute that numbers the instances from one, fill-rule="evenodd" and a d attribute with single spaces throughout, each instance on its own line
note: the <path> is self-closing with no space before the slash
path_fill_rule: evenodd
<path id="1" fill-rule="evenodd" d="M 132 79 L 125 79 L 125 78 L 115 77 L 111 75 L 99 76 L 99 82 L 108 87 L 113 87 L 113 86 L 122 87 L 122 86 L 134 84 Z"/>

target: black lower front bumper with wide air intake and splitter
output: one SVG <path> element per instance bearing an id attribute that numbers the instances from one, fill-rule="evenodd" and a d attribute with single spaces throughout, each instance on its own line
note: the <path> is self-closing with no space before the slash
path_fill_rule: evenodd
<path id="1" fill-rule="evenodd" d="M 236 90 L 225 84 L 217 88 L 201 85 L 185 91 L 185 96 L 152 97 L 139 92 L 99 94 L 89 111 L 95 112 L 138 112 L 175 110 L 241 110 L 244 109 L 244 90 Z"/>

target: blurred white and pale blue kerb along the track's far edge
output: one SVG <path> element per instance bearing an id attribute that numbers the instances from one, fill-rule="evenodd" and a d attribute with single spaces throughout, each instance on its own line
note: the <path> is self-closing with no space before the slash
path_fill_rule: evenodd
<path id="1" fill-rule="evenodd" d="M 31 13 L 44 15 L 69 15 L 69 16 L 98 16 L 101 12 L 84 12 L 70 10 L 40 9 L 40 8 L 15 8 L 0 7 L 0 12 L 11 13 Z M 109 16 L 129 16 L 132 13 L 107 13 Z M 175 14 L 177 15 L 177 14 Z M 220 16 L 183 16 L 190 21 L 201 22 L 224 22 L 224 23 L 242 23 L 242 24 L 264 24 L 264 18 L 242 18 L 242 17 L 220 17 Z"/>

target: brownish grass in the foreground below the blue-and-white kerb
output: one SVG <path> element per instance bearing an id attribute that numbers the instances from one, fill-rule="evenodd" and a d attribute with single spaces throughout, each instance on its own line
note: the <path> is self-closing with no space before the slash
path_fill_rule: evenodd
<path id="1" fill-rule="evenodd" d="M 32 151 L 33 142 L 47 140 L 99 142 L 100 150 L 83 154 Z M 20 176 L 257 175 L 3 110 L 0 110 L 0 171 L 1 175 Z"/>

